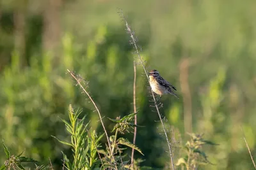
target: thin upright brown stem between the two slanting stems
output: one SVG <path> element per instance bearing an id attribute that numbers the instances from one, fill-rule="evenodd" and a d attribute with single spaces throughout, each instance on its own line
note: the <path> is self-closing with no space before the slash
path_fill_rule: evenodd
<path id="1" fill-rule="evenodd" d="M 133 80 L 133 111 L 134 113 L 137 113 L 136 110 L 136 62 L 135 60 L 133 61 L 133 70 L 134 70 L 134 80 Z M 136 143 L 136 134 L 137 134 L 137 114 L 134 116 L 134 136 L 133 136 L 133 144 L 135 145 Z M 131 164 L 132 164 L 132 169 L 134 169 L 134 148 L 132 148 L 132 157 L 131 157 Z"/>

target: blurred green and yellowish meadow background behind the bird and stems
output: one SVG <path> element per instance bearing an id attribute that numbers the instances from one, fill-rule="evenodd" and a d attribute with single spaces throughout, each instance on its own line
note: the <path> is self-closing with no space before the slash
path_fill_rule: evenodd
<path id="1" fill-rule="evenodd" d="M 241 132 L 243 127 L 256 159 L 253 0 L 1 1 L 0 138 L 11 152 L 24 150 L 43 164 L 50 158 L 60 168 L 61 151 L 70 148 L 51 135 L 67 139 L 60 118 L 68 118 L 68 104 L 83 108 L 92 128 L 103 132 L 92 104 L 67 69 L 90 81 L 90 94 L 109 133 L 113 124 L 106 117 L 132 113 L 136 58 L 116 8 L 124 10 L 136 32 L 147 68 L 157 69 L 177 87 L 180 99 L 162 97 L 161 113 L 179 130 L 179 142 L 186 142 L 186 132 L 202 132 L 220 144 L 204 148 L 216 164 L 205 169 L 253 169 Z M 144 166 L 162 169 L 170 162 L 168 147 L 150 107 L 145 75 L 137 69 L 138 124 L 145 127 L 138 129 L 136 145 L 145 156 L 136 152 L 135 157 L 145 159 Z M 132 141 L 132 134 L 125 137 Z M 0 153 L 3 164 L 3 149 Z M 174 153 L 177 160 L 179 149 Z"/>

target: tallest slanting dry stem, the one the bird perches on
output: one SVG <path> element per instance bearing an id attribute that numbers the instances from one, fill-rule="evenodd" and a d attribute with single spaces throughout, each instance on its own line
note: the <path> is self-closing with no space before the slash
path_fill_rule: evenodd
<path id="1" fill-rule="evenodd" d="M 136 45 L 136 42 L 138 41 L 138 39 L 135 38 L 134 32 L 132 32 L 131 27 L 128 25 L 128 22 L 127 22 L 127 20 L 125 19 L 124 13 L 122 12 L 122 10 L 120 10 L 120 15 L 121 15 L 122 19 L 123 19 L 124 22 L 125 22 L 125 27 L 126 27 L 126 29 L 127 29 L 127 33 L 131 35 L 131 36 L 130 36 L 130 37 L 131 37 L 131 44 L 134 45 L 134 48 L 135 48 L 135 50 L 136 50 L 136 54 L 138 55 L 138 58 L 140 59 L 140 64 L 141 64 L 141 66 L 143 67 L 143 70 L 144 70 L 144 72 L 145 72 L 145 74 L 146 74 L 146 76 L 147 76 L 148 83 L 149 83 L 148 73 L 147 73 L 147 70 L 146 70 L 145 64 L 144 64 L 145 61 L 143 61 L 142 57 L 140 56 L 139 48 L 138 48 L 138 46 Z M 159 108 L 158 108 L 157 103 L 156 103 L 156 97 L 154 96 L 153 90 L 152 90 L 151 88 L 150 88 L 150 90 L 151 90 L 151 93 L 152 93 L 152 97 L 153 97 L 153 99 L 154 99 L 154 104 L 155 104 L 155 106 L 156 106 L 156 110 L 157 110 L 159 119 L 160 119 L 161 124 L 162 124 L 162 126 L 163 126 L 164 135 L 165 135 L 165 137 L 166 137 L 166 141 L 167 141 L 168 148 L 169 148 L 169 154 L 170 154 L 170 157 L 171 157 L 171 160 L 172 160 L 172 169 L 174 170 L 174 162 L 173 162 L 173 156 L 172 156 L 172 148 L 171 148 L 170 142 L 169 142 L 169 140 L 168 140 L 168 136 L 167 136 L 167 133 L 166 133 L 166 129 L 165 129 L 165 127 L 164 127 L 164 124 L 163 124 L 163 120 L 162 120 L 162 118 L 161 118 L 161 114 L 160 114 L 160 112 L 159 112 Z"/>

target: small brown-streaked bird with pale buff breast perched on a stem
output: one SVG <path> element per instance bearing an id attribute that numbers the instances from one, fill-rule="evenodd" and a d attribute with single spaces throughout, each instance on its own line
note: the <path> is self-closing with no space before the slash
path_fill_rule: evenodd
<path id="1" fill-rule="evenodd" d="M 159 72 L 156 69 L 152 69 L 148 74 L 150 87 L 153 92 L 160 95 L 159 99 L 161 99 L 163 94 L 172 94 L 173 96 L 177 97 L 177 99 L 179 99 L 177 94 L 173 92 L 173 90 L 177 89 L 173 85 L 171 85 L 171 83 L 164 80 L 164 78 L 160 76 Z M 157 102 L 159 101 L 159 99 L 157 100 Z"/>

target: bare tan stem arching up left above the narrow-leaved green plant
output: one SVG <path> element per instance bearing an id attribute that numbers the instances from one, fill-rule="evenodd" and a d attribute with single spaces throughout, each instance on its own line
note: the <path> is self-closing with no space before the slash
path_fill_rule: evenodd
<path id="1" fill-rule="evenodd" d="M 104 126 L 104 124 L 103 124 L 102 117 L 101 117 L 101 115 L 100 115 L 100 111 L 99 111 L 97 105 L 96 105 L 95 102 L 93 101 L 93 99 L 92 99 L 92 97 L 90 96 L 90 94 L 84 89 L 83 85 L 81 85 L 80 81 L 77 79 L 77 76 L 76 76 L 74 73 L 72 73 L 71 71 L 69 71 L 68 69 L 67 69 L 67 71 L 68 71 L 68 73 L 70 73 L 70 75 L 77 81 L 77 84 L 81 87 L 81 89 L 83 90 L 83 92 L 89 97 L 90 101 L 92 101 L 92 104 L 94 105 L 95 109 L 97 110 L 97 112 L 98 112 L 98 114 L 99 114 L 100 122 L 101 122 L 101 124 L 102 124 L 102 127 L 103 127 L 103 129 L 104 129 L 104 132 L 105 132 L 105 134 L 106 134 L 106 138 L 107 138 L 107 140 L 108 140 L 109 150 L 110 150 L 110 152 L 111 152 L 111 156 L 112 156 L 112 158 L 113 158 L 113 161 L 114 161 L 114 164 L 115 164 L 115 168 L 116 168 L 116 170 L 117 170 L 116 162 L 115 162 L 115 157 L 114 157 L 113 152 L 112 152 L 112 150 L 111 150 L 111 145 L 110 145 L 108 133 L 107 133 L 106 128 L 105 128 L 105 126 Z"/>

